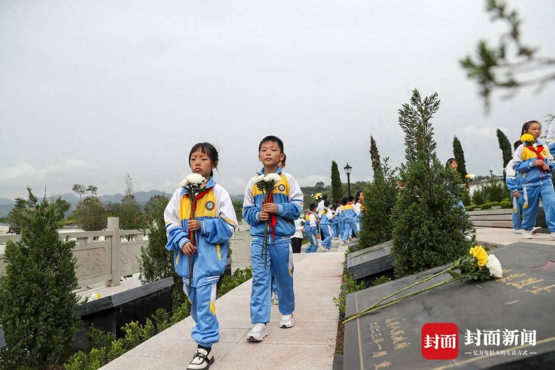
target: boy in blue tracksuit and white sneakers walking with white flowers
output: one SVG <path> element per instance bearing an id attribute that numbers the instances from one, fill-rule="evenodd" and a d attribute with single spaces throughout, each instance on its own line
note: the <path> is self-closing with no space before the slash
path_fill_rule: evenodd
<path id="1" fill-rule="evenodd" d="M 253 177 L 246 186 L 243 202 L 243 218 L 251 226 L 253 237 L 250 261 L 253 268 L 253 284 L 250 295 L 250 317 L 253 327 L 246 338 L 260 342 L 268 335 L 270 322 L 271 272 L 278 285 L 281 328 L 295 325 L 295 295 L 293 292 L 293 256 L 291 236 L 295 234 L 295 220 L 302 210 L 302 191 L 290 174 L 281 171 L 280 160 L 284 156 L 283 142 L 276 136 L 266 136 L 259 144 L 258 159 L 264 165 L 259 175 L 278 174 L 270 202 L 264 203 L 264 194 L 256 187 Z M 264 241 L 265 228 L 270 230 Z M 264 246 L 268 246 L 267 256 Z M 266 263 L 265 263 L 266 260 Z"/>

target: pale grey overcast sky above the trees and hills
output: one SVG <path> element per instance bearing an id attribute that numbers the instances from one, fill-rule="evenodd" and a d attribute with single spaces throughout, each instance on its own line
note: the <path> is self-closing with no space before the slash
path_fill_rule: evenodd
<path id="1" fill-rule="evenodd" d="M 555 52 L 555 2 L 509 1 L 523 39 Z M 497 40 L 483 0 L 0 2 L 0 197 L 97 185 L 172 192 L 199 141 L 220 149 L 215 180 L 244 192 L 258 142 L 285 142 L 302 185 L 330 183 L 331 161 L 370 180 L 370 134 L 403 160 L 397 109 L 413 88 L 438 92 L 441 160 L 457 135 L 467 170 L 502 171 L 495 129 L 555 113 L 542 94 L 496 95 L 485 115 L 458 60 Z M 346 181 L 341 169 L 342 180 Z"/>

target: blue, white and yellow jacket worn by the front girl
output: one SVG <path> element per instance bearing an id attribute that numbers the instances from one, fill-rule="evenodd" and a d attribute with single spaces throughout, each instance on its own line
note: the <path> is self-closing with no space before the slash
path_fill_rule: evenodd
<path id="1" fill-rule="evenodd" d="M 181 250 L 191 235 L 187 226 L 191 215 L 191 202 L 185 189 L 175 190 L 164 211 L 166 222 L 166 249 L 174 251 L 174 267 L 185 283 L 189 283 L 189 256 Z M 237 217 L 228 192 L 210 178 L 206 188 L 196 200 L 195 219 L 200 230 L 195 231 L 193 258 L 193 281 L 199 287 L 218 282 L 225 270 L 228 257 L 228 241 L 237 227 Z"/>

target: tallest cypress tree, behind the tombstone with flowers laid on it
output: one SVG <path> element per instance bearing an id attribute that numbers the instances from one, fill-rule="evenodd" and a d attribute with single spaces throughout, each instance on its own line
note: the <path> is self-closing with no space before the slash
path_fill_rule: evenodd
<path id="1" fill-rule="evenodd" d="M 460 176 L 437 158 L 431 119 L 439 106 L 437 93 L 422 99 L 415 89 L 399 110 L 406 163 L 400 170 L 405 189 L 391 212 L 396 277 L 450 263 L 467 254 L 475 238 L 466 212 L 456 206 Z"/>

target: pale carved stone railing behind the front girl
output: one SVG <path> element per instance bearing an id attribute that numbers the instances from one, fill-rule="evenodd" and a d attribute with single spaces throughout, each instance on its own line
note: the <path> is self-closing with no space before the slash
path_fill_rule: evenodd
<path id="1" fill-rule="evenodd" d="M 240 224 L 231 238 L 234 268 L 250 266 L 249 226 Z M 121 230 L 119 218 L 108 217 L 108 228 L 104 231 L 60 232 L 60 238 L 68 236 L 75 240 L 73 254 L 77 257 L 75 272 L 79 285 L 84 287 L 105 282 L 106 286 L 118 286 L 120 278 L 139 272 L 140 249 L 148 245 L 148 230 Z M 126 238 L 122 239 L 122 236 Z M 127 241 L 127 237 L 131 241 Z M 21 235 L 1 235 L 0 245 L 8 240 L 17 242 Z M 3 250 L 0 250 L 0 275 L 6 272 Z"/>

